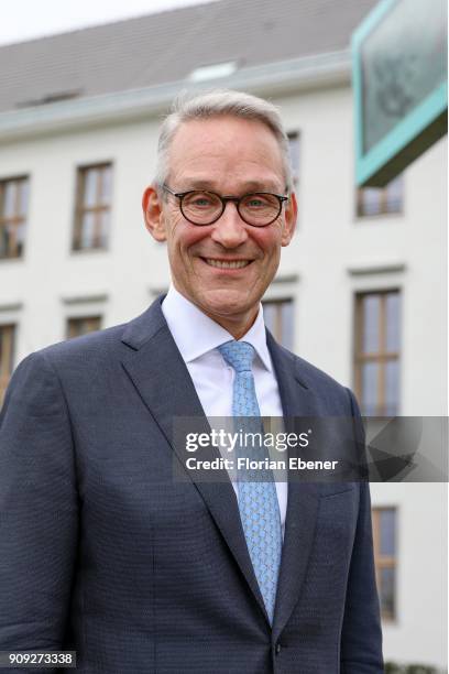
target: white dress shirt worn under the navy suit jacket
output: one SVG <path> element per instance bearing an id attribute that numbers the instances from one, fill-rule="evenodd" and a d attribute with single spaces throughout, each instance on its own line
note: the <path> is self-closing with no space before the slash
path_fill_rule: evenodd
<path id="1" fill-rule="evenodd" d="M 162 312 L 190 373 L 206 416 L 232 416 L 234 370 L 217 348 L 233 339 L 232 335 L 206 316 L 173 285 L 162 304 Z M 262 305 L 254 324 L 241 339 L 250 343 L 255 350 L 253 374 L 261 415 L 282 417 L 280 391 L 266 346 Z M 232 486 L 237 493 L 234 481 Z M 284 535 L 287 482 L 276 481 L 276 492 Z"/>

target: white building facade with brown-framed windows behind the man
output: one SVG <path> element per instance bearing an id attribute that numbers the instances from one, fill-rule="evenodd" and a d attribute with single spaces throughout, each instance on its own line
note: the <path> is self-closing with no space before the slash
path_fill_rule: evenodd
<path id="1" fill-rule="evenodd" d="M 270 97 L 292 137 L 297 232 L 266 293 L 278 338 L 355 389 L 365 412 L 445 415 L 446 139 L 390 196 L 358 197 L 348 51 L 204 83 L 217 85 Z M 167 289 L 166 250 L 144 228 L 141 196 L 162 115 L 185 86 L 0 113 L 3 383 L 31 351 L 127 322 Z M 20 254 L 9 256 L 13 227 Z M 375 483 L 372 501 L 385 660 L 442 671 L 446 488 Z"/>

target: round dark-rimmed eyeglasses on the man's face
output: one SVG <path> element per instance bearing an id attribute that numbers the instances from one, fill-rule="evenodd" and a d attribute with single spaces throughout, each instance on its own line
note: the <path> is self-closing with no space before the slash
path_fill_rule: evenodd
<path id="1" fill-rule="evenodd" d="M 227 203 L 233 202 L 247 225 L 266 227 L 280 217 L 284 202 L 288 202 L 287 196 L 270 192 L 254 192 L 236 197 L 221 196 L 202 189 L 174 192 L 165 184 L 162 185 L 162 188 L 179 199 L 183 216 L 191 225 L 198 226 L 216 222 L 223 215 Z"/>

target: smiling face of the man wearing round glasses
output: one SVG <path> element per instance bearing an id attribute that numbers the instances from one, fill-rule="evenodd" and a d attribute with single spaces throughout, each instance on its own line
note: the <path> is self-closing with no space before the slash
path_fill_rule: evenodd
<path id="1" fill-rule="evenodd" d="M 261 122 L 228 116 L 179 127 L 166 182 L 176 193 L 198 188 L 234 196 L 285 194 L 281 150 L 271 130 Z M 175 287 L 227 329 L 236 326 L 237 331 L 245 331 L 277 270 L 281 247 L 291 241 L 295 197 L 266 227 L 247 225 L 234 203 L 228 203 L 212 225 L 191 225 L 182 215 L 177 197 L 168 194 L 161 199 L 151 187 L 144 195 L 144 210 L 154 238 L 167 242 Z M 220 267 L 223 262 L 239 265 Z"/>

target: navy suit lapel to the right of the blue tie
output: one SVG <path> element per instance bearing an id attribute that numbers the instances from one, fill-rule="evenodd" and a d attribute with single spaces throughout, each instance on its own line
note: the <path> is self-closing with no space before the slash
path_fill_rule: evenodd
<path id="1" fill-rule="evenodd" d="M 267 345 L 280 388 L 286 431 L 294 431 L 294 417 L 317 414 L 314 395 L 302 381 L 297 359 L 280 347 L 267 333 Z M 314 542 L 318 514 L 318 485 L 289 481 L 284 545 L 277 585 L 273 639 L 277 639 L 299 599 Z"/>

